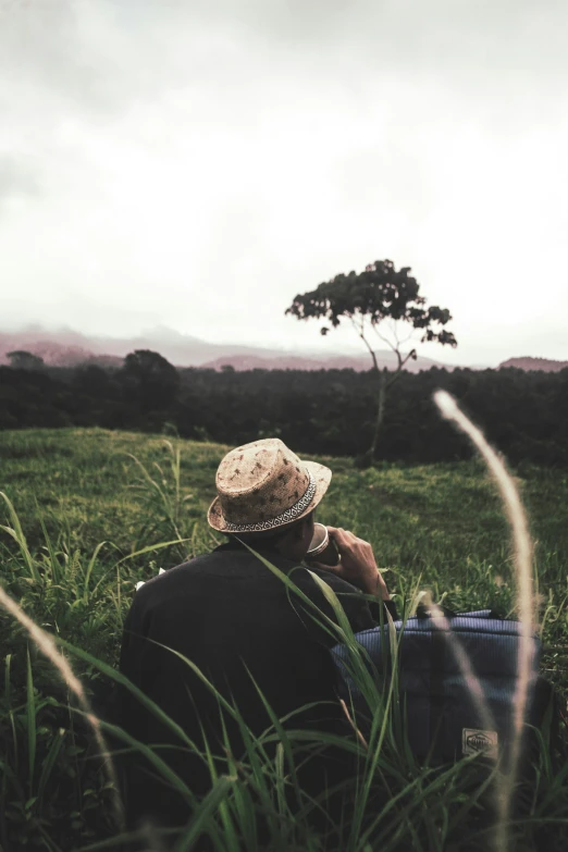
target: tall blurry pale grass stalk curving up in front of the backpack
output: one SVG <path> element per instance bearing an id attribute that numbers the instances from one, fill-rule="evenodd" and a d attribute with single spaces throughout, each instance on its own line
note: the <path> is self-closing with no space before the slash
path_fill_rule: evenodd
<path id="1" fill-rule="evenodd" d="M 508 848 L 507 824 L 510 819 L 513 791 L 517 780 L 522 740 L 522 726 L 527 712 L 532 671 L 532 635 L 534 633 L 534 594 L 532 579 L 532 543 L 527 517 L 513 478 L 505 465 L 490 446 L 480 429 L 459 410 L 456 402 L 445 391 L 437 391 L 434 400 L 443 417 L 452 420 L 465 432 L 483 457 L 493 476 L 513 531 L 515 568 L 517 575 L 517 609 L 521 623 L 519 655 L 517 663 L 517 687 L 514 696 L 514 734 L 510 760 L 506 776 L 499 785 L 499 818 L 496 832 L 496 849 L 506 852 Z"/>

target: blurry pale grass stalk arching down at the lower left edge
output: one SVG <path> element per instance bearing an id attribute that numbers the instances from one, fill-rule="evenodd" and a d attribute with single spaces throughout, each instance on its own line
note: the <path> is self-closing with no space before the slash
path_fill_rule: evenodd
<path id="1" fill-rule="evenodd" d="M 109 781 L 112 782 L 112 789 L 113 789 L 112 801 L 113 801 L 114 814 L 116 818 L 116 824 L 122 830 L 124 828 L 124 808 L 119 792 L 116 771 L 114 769 L 114 764 L 112 762 L 109 749 L 107 746 L 107 742 L 102 734 L 100 720 L 92 713 L 85 690 L 83 689 L 83 683 L 75 676 L 73 669 L 69 665 L 63 654 L 61 654 L 57 650 L 55 643 L 53 642 L 53 639 L 49 635 L 49 633 L 46 633 L 45 630 L 41 630 L 41 628 L 38 627 L 35 623 L 35 621 L 33 621 L 32 618 L 29 618 L 29 616 L 27 616 L 24 613 L 22 607 L 18 606 L 16 602 L 12 600 L 12 597 L 10 597 L 10 595 L 8 595 L 4 592 L 2 586 L 0 586 L 0 606 L 2 606 L 8 613 L 10 613 L 10 615 L 13 616 L 17 621 L 20 621 L 22 627 L 24 627 L 27 630 L 30 639 L 35 642 L 39 651 L 41 651 L 41 653 L 45 654 L 45 656 L 50 660 L 50 663 L 52 663 L 55 666 L 55 668 L 58 669 L 59 674 L 61 675 L 62 679 L 65 681 L 70 690 L 74 692 L 75 695 L 77 696 L 81 706 L 85 711 L 87 721 L 92 728 L 95 740 L 97 742 L 100 755 L 102 757 L 104 771 L 107 773 Z"/>

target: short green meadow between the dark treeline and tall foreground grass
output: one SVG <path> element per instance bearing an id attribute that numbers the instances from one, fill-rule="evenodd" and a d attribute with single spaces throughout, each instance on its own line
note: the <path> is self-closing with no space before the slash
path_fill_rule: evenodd
<path id="1" fill-rule="evenodd" d="M 100 564 L 176 539 L 176 529 L 192 539 L 188 553 L 202 552 L 222 541 L 210 533 L 206 511 L 215 493 L 217 466 L 229 448 L 100 429 L 3 432 L 0 485 L 33 548 L 45 544 L 44 522 L 69 552 L 90 555 L 106 541 Z M 178 482 L 175 449 L 181 450 Z M 436 596 L 446 593 L 452 605 L 490 601 L 508 610 L 508 530 L 480 462 L 385 462 L 359 471 L 350 459 L 316 458 L 334 473 L 318 520 L 371 541 L 395 591 L 404 593 L 420 580 Z M 541 592 L 548 600 L 552 591 L 552 603 L 561 605 L 568 592 L 568 477 L 534 467 L 517 483 L 536 542 Z M 176 546 L 155 559 L 166 568 L 184 555 Z M 144 555 L 125 563 L 121 576 L 146 579 L 148 569 L 150 556 Z"/>

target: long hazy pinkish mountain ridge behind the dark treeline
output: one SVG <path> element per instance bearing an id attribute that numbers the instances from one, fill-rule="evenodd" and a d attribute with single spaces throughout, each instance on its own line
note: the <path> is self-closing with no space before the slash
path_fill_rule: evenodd
<path id="1" fill-rule="evenodd" d="M 180 334 L 169 329 L 158 329 L 147 334 L 131 338 L 113 338 L 88 336 L 63 330 L 50 332 L 39 326 L 30 326 L 17 332 L 0 331 L 0 363 L 8 363 L 8 353 L 23 349 L 38 355 L 46 365 L 52 367 L 77 367 L 84 363 L 95 363 L 101 367 L 120 367 L 124 357 L 135 349 L 152 349 L 160 353 L 175 367 L 203 367 L 220 370 L 227 365 L 235 370 L 322 370 L 346 369 L 357 371 L 369 370 L 369 355 L 330 355 L 310 351 L 286 351 L 284 349 L 268 349 L 260 346 L 243 346 L 239 344 L 218 344 L 201 341 L 198 337 Z M 393 369 L 396 357 L 392 351 L 378 351 L 380 367 Z M 409 361 L 409 372 L 428 370 L 430 367 L 454 368 L 418 357 Z"/>

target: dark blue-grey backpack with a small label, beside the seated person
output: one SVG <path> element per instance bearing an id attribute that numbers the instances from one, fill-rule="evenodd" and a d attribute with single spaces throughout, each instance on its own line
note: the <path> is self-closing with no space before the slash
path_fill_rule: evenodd
<path id="1" fill-rule="evenodd" d="M 476 752 L 502 755 L 513 734 L 520 622 L 498 618 L 489 609 L 459 615 L 444 609 L 444 616 L 436 619 L 419 610 L 405 625 L 394 623 L 398 639 L 398 697 L 411 751 L 417 758 L 433 764 Z M 356 640 L 367 652 L 363 656 L 369 670 L 384 689 L 392 666 L 388 626 L 356 633 Z M 481 686 L 491 725 L 480 714 L 458 664 L 456 642 Z M 541 642 L 536 637 L 531 639 L 531 651 L 526 720 L 539 727 L 552 689 L 539 677 Z M 339 694 L 355 709 L 365 732 L 369 730 L 372 711 L 349 674 L 348 651 L 344 645 L 335 645 L 332 654 L 339 675 Z"/>

